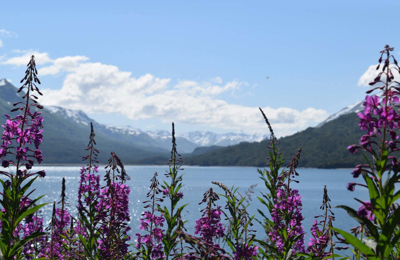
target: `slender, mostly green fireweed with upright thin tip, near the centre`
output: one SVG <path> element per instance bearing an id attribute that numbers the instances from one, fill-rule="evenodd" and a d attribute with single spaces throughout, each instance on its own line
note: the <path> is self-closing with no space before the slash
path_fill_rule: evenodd
<path id="1" fill-rule="evenodd" d="M 178 215 L 182 212 L 182 209 L 187 205 L 177 206 L 177 203 L 181 198 L 183 198 L 183 193 L 180 191 L 182 187 L 182 176 L 179 174 L 183 159 L 176 150 L 176 139 L 175 139 L 175 125 L 172 122 L 172 149 L 171 157 L 167 164 L 169 170 L 164 174 L 167 178 L 170 178 L 170 182 L 163 181 L 162 193 L 164 197 L 169 198 L 169 202 L 164 201 L 164 207 L 159 208 L 160 211 L 164 213 L 164 218 L 166 222 L 166 230 L 162 237 L 162 243 L 164 244 L 165 259 L 168 260 L 170 253 L 173 251 L 177 245 L 177 233 L 174 232 L 178 227 Z M 165 205 L 166 204 L 166 205 Z M 184 222 L 183 222 L 184 223 Z M 180 229 L 180 228 L 178 228 Z"/>

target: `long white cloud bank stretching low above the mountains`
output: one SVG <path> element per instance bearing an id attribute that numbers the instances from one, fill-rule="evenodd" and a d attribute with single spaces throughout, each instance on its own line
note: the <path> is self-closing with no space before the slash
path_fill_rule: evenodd
<path id="1" fill-rule="evenodd" d="M 131 72 L 117 66 L 86 60 L 85 56 L 68 56 L 42 67 L 41 74 L 67 74 L 60 89 L 41 89 L 40 102 L 88 113 L 120 113 L 130 119 L 158 118 L 248 133 L 266 131 L 257 105 L 228 103 L 219 96 L 246 87 L 246 82 L 232 80 L 222 84 L 218 78 L 211 82 L 180 80 L 171 85 L 169 78 L 152 74 L 132 77 Z M 304 129 L 328 115 L 325 110 L 312 107 L 299 111 L 263 106 L 263 110 L 279 136 Z"/>

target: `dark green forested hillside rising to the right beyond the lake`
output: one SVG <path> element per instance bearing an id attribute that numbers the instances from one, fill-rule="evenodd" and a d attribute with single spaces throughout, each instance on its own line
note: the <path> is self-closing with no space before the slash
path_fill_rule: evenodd
<path id="1" fill-rule="evenodd" d="M 273 125 L 272 125 L 273 127 Z M 265 126 L 265 131 L 267 127 Z M 290 136 L 279 139 L 284 164 L 287 165 L 299 146 L 302 151 L 299 166 L 318 168 L 353 167 L 363 162 L 361 154 L 350 154 L 347 146 L 358 143 L 364 131 L 359 129 L 355 112 L 332 118 L 319 127 L 308 127 Z M 234 165 L 264 167 L 268 156 L 267 140 L 242 142 L 222 147 L 203 154 L 184 158 L 189 165 Z"/>

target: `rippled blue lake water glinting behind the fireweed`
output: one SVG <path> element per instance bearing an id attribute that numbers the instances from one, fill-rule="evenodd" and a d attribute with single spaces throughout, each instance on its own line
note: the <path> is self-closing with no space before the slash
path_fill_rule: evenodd
<path id="1" fill-rule="evenodd" d="M 104 175 L 104 168 L 99 167 L 99 174 L 101 178 Z M 52 202 L 58 201 L 61 194 L 61 180 L 65 177 L 66 193 L 69 197 L 71 206 L 69 208 L 73 215 L 76 215 L 76 197 L 77 188 L 79 181 L 79 166 L 39 166 L 33 170 L 45 169 L 46 177 L 38 178 L 34 183 L 33 187 L 36 188 L 33 195 L 47 194 L 41 199 L 41 202 Z M 154 172 L 158 172 L 160 182 L 166 179 L 163 175 L 166 166 L 154 165 L 154 166 L 125 166 L 127 174 L 130 176 L 130 180 L 127 184 L 130 186 L 130 201 L 129 210 L 131 214 L 130 226 L 132 227 L 132 236 L 137 232 L 140 215 L 143 212 L 143 203 L 145 195 L 148 191 L 149 180 L 153 176 Z M 361 200 L 368 199 L 367 189 L 357 186 L 355 191 L 351 192 L 346 189 L 348 182 L 361 182 L 359 179 L 354 179 L 350 174 L 352 169 L 315 169 L 315 168 L 299 168 L 299 176 L 295 179 L 299 183 L 292 182 L 293 186 L 299 190 L 299 194 L 302 196 L 302 215 L 304 217 L 303 226 L 305 234 L 305 241 L 308 243 L 310 237 L 310 227 L 313 222 L 315 215 L 323 214 L 319 206 L 322 203 L 323 186 L 327 186 L 328 196 L 331 199 L 331 206 L 335 205 L 348 205 L 355 209 L 358 209 L 359 202 L 353 198 L 357 197 Z M 266 188 L 259 178 L 256 167 L 200 167 L 200 166 L 184 166 L 183 175 L 183 203 L 189 203 L 184 212 L 184 219 L 188 220 L 185 224 L 188 232 L 194 233 L 195 220 L 201 216 L 200 209 L 204 207 L 203 204 L 199 205 L 203 193 L 212 186 L 213 190 L 217 193 L 224 193 L 218 186 L 211 184 L 211 181 L 219 181 L 225 184 L 227 187 L 232 185 L 238 186 L 238 191 L 244 194 L 250 185 L 257 184 L 254 188 L 255 193 L 252 195 L 252 201 L 248 206 L 248 211 L 251 214 L 259 216 L 257 208 L 267 213 L 267 209 L 258 201 L 256 196 L 260 191 L 266 192 Z M 357 180 L 357 181 L 356 181 Z M 166 180 L 167 182 L 169 179 Z M 222 198 L 221 198 L 222 199 Z M 225 202 L 219 200 L 219 205 L 222 207 Z M 48 221 L 51 216 L 52 203 L 44 207 L 43 215 L 45 221 Z M 186 212 L 188 211 L 188 212 Z M 335 214 L 336 220 L 333 222 L 335 227 L 339 227 L 348 230 L 350 227 L 356 225 L 356 221 L 349 217 L 343 209 L 332 208 Z M 257 237 L 263 238 L 265 236 L 262 227 L 254 221 L 254 229 L 258 230 Z"/>

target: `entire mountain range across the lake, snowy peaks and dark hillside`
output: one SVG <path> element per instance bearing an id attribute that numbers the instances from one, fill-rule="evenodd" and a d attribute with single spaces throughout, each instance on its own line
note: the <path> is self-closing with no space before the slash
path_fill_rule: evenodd
<path id="1" fill-rule="evenodd" d="M 21 93 L 5 79 L 0 79 L 0 114 L 10 113 L 12 103 L 21 100 Z M 301 145 L 299 166 L 352 167 L 362 162 L 360 154 L 349 154 L 346 147 L 358 142 L 363 134 L 358 127 L 356 112 L 363 109 L 362 101 L 330 115 L 316 127 L 279 139 L 285 163 Z M 142 131 L 131 126 L 105 125 L 95 122 L 80 110 L 59 106 L 43 109 L 44 163 L 80 163 L 86 154 L 90 122 L 93 122 L 99 161 L 106 163 L 115 151 L 127 164 L 165 163 L 171 148 L 171 134 L 166 130 Z M 261 116 L 261 115 L 260 115 Z M 268 115 L 267 115 L 268 116 Z M 273 127 L 273 125 L 272 125 Z M 189 165 L 265 166 L 268 156 L 267 127 L 264 135 L 242 133 L 218 134 L 210 131 L 177 133 L 178 151 Z"/>

